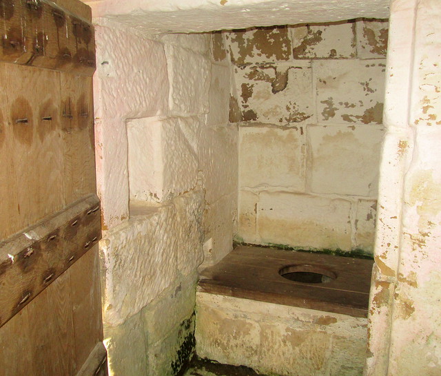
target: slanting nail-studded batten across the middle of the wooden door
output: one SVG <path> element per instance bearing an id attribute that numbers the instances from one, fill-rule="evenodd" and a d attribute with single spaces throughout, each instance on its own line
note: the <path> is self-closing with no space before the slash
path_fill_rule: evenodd
<path id="1" fill-rule="evenodd" d="M 0 326 L 100 238 L 99 199 L 91 195 L 0 242 Z"/>

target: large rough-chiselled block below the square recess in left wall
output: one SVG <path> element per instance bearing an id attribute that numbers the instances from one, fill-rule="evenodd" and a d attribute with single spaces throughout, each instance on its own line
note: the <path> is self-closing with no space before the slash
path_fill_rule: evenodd
<path id="1" fill-rule="evenodd" d="M 185 236 L 172 205 L 110 230 L 100 241 L 103 322 L 122 324 L 176 279 L 178 240 Z M 179 244 L 181 245 L 181 244 Z"/>

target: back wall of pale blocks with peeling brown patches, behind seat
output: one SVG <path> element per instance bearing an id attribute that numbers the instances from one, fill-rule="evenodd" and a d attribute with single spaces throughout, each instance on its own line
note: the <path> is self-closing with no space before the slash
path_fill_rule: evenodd
<path id="1" fill-rule="evenodd" d="M 239 242 L 372 254 L 385 20 L 225 32 Z"/>

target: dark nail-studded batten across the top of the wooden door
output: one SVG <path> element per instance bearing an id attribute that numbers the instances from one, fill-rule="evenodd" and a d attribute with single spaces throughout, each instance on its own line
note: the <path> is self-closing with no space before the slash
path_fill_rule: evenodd
<path id="1" fill-rule="evenodd" d="M 70 6 L 87 17 L 81 18 L 60 7 L 68 4 L 59 1 L 57 5 L 48 0 L 1 1 L 0 61 L 92 76 L 96 65 L 90 12 L 85 5 Z"/>

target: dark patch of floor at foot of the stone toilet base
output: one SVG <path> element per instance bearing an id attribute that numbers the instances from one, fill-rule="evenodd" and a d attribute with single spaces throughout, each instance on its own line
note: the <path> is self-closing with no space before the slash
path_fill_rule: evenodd
<path id="1" fill-rule="evenodd" d="M 262 376 L 252 368 L 244 366 L 230 366 L 210 360 L 194 357 L 183 376 Z"/>

